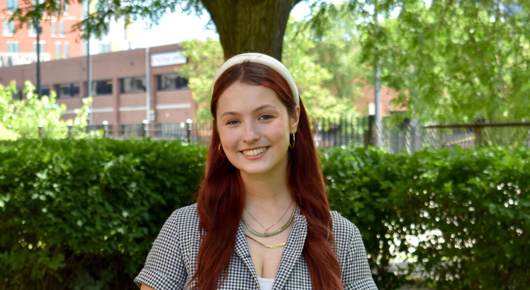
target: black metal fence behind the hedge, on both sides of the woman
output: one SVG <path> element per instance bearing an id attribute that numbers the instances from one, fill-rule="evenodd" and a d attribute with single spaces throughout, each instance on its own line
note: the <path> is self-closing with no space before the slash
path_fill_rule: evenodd
<path id="1" fill-rule="evenodd" d="M 374 144 L 377 130 L 373 116 L 316 118 L 311 121 L 317 147 Z M 89 125 L 86 131 L 36 127 L 25 130 L 22 138 L 152 138 L 182 140 L 207 144 L 211 139 L 211 122 L 103 124 Z M 449 125 L 420 125 L 417 121 L 400 124 L 383 120 L 379 130 L 380 148 L 391 153 L 414 152 L 422 148 L 470 148 L 485 146 L 524 146 L 530 148 L 530 122 L 527 123 L 472 123 Z"/>

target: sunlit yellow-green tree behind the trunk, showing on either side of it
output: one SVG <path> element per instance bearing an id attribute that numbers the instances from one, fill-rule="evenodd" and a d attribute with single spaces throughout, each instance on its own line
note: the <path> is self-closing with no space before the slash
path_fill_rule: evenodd
<path id="1" fill-rule="evenodd" d="M 296 80 L 304 104 L 312 117 L 339 116 L 351 110 L 350 104 L 338 102 L 329 89 L 323 86 L 331 79 L 329 72 L 317 63 L 311 53 L 314 43 L 305 32 L 299 31 L 303 23 L 291 20 L 285 34 L 284 64 Z M 181 44 L 189 58 L 179 69 L 188 78 L 188 86 L 198 103 L 196 121 L 209 121 L 211 80 L 223 63 L 223 52 L 218 41 L 190 40 Z"/>

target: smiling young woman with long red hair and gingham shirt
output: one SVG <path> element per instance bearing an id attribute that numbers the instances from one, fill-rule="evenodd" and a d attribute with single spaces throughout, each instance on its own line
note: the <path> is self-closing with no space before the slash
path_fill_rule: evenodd
<path id="1" fill-rule="evenodd" d="M 214 78 L 197 204 L 164 224 L 142 289 L 377 289 L 356 226 L 330 212 L 293 77 L 259 53 Z"/>

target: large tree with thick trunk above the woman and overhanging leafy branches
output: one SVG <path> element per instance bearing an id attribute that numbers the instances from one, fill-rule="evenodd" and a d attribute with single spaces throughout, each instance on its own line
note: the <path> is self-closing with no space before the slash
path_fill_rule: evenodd
<path id="1" fill-rule="evenodd" d="M 255 51 L 281 59 L 284 31 L 293 7 L 301 0 L 94 0 L 96 10 L 77 25 L 85 32 L 100 36 L 108 31 L 112 19 L 126 17 L 136 21 L 138 17 L 156 23 L 168 11 L 175 12 L 181 7 L 183 12 L 202 13 L 208 11 L 219 33 L 224 57 L 242 52 Z M 64 0 L 66 3 L 82 0 Z M 38 5 L 17 9 L 11 19 L 19 26 L 31 24 L 33 19 L 43 19 L 43 15 L 61 14 L 63 5 L 56 0 L 39 1 Z"/>

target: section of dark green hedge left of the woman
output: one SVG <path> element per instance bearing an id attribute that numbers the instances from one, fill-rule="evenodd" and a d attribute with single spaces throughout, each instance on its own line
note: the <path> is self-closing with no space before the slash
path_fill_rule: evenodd
<path id="1" fill-rule="evenodd" d="M 204 153 L 149 140 L 1 142 L 0 288 L 136 287 L 163 222 L 192 203 Z"/>

